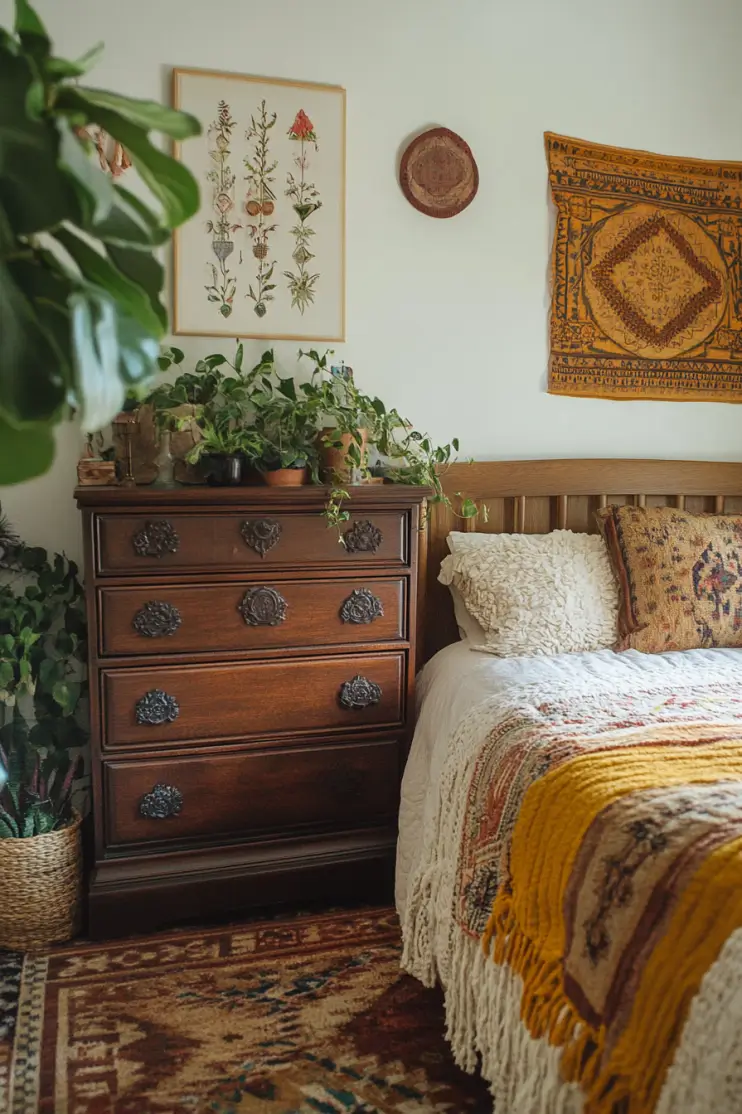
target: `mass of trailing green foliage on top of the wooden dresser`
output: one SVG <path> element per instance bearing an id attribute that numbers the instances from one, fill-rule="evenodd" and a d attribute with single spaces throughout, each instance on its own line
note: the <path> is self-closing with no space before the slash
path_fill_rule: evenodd
<path id="1" fill-rule="evenodd" d="M 442 502 L 459 518 L 486 517 L 486 507 L 457 494 L 456 507 L 443 489 L 447 467 L 456 459 L 459 442 L 436 444 L 420 433 L 394 408 L 365 394 L 350 369 L 336 374 L 330 367 L 332 351 L 300 350 L 299 358 L 312 362 L 309 381 L 282 378 L 273 351 L 243 372 L 243 345 L 237 344 L 233 361 L 214 354 L 199 360 L 193 372 L 182 372 L 173 383 L 155 390 L 149 400 L 156 420 L 169 428 L 183 428 L 195 420 L 202 440 L 188 452 L 193 463 L 205 456 L 241 453 L 260 470 L 309 466 L 312 480 L 321 482 L 319 448 L 342 449 L 346 462 L 360 479 L 372 472 L 368 449 L 379 457 L 377 471 L 389 482 L 430 488 L 429 505 Z M 183 353 L 163 353 L 163 370 L 179 367 Z M 186 417 L 177 413 L 189 404 Z M 343 442 L 345 438 L 345 443 Z M 329 525 L 348 521 L 346 477 L 330 477 L 324 508 Z"/>

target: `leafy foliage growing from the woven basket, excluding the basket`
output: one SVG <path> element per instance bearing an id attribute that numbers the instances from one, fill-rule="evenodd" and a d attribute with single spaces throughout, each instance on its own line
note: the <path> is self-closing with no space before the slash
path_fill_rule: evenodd
<path id="1" fill-rule="evenodd" d="M 74 561 L 25 545 L 1 515 L 0 568 L 0 837 L 39 834 L 66 822 L 70 751 L 88 737 L 82 587 Z"/>

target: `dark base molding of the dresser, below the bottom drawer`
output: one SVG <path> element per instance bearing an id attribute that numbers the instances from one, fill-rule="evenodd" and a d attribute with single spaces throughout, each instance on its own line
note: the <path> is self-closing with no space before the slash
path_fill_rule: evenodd
<path id="1" fill-rule="evenodd" d="M 391 829 L 199 852 L 109 859 L 92 872 L 88 936 L 115 939 L 184 921 L 314 901 L 391 901 Z"/>

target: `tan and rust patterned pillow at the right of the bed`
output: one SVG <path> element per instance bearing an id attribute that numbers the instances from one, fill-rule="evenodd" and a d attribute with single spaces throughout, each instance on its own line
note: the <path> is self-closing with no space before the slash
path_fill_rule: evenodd
<path id="1" fill-rule="evenodd" d="M 619 587 L 617 649 L 742 646 L 742 518 L 597 511 Z"/>

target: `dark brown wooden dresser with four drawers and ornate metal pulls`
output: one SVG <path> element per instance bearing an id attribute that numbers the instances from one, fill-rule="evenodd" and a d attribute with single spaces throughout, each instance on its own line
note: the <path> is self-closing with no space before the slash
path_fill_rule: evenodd
<path id="1" fill-rule="evenodd" d="M 426 491 L 351 491 L 78 488 L 92 937 L 389 895 Z"/>

